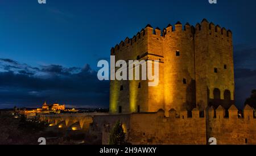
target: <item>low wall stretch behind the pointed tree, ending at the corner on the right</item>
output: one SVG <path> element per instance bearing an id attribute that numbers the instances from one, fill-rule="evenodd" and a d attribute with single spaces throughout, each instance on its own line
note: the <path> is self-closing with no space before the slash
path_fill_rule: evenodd
<path id="1" fill-rule="evenodd" d="M 131 144 L 206 144 L 205 119 L 187 115 L 164 117 L 164 112 L 130 115 L 94 116 L 90 132 L 102 132 L 102 144 L 108 144 L 109 133 L 120 121 Z"/>

